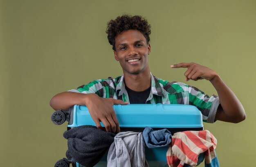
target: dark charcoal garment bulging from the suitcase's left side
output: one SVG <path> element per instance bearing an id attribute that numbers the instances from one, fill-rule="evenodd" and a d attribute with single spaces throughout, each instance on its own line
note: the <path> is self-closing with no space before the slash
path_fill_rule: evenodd
<path id="1" fill-rule="evenodd" d="M 74 127 L 63 134 L 74 159 L 85 167 L 96 165 L 114 142 L 115 134 L 99 130 L 96 126 L 83 125 Z"/>

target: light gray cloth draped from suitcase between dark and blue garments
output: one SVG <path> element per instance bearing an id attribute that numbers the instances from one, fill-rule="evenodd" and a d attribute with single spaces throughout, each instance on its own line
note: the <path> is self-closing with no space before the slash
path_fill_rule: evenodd
<path id="1" fill-rule="evenodd" d="M 108 150 L 108 167 L 148 167 L 141 132 L 120 132 Z"/>

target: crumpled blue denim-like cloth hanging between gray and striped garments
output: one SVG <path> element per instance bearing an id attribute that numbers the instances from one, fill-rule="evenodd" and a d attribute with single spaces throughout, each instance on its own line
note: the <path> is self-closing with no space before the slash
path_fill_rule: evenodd
<path id="1" fill-rule="evenodd" d="M 148 148 L 165 147 L 171 143 L 172 135 L 167 129 L 153 130 L 146 126 L 142 134 Z"/>

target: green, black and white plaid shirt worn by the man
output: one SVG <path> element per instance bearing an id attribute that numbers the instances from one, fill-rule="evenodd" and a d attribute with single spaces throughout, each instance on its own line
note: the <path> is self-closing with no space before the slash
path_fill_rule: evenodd
<path id="1" fill-rule="evenodd" d="M 130 102 L 125 89 L 124 75 L 115 79 L 109 77 L 108 79 L 94 80 L 87 85 L 69 91 L 85 94 L 96 93 L 99 97 Z M 152 103 L 195 105 L 202 112 L 203 121 L 213 123 L 220 101 L 214 94 L 209 97 L 193 86 L 181 82 L 165 81 L 151 74 L 151 90 L 146 104 Z"/>

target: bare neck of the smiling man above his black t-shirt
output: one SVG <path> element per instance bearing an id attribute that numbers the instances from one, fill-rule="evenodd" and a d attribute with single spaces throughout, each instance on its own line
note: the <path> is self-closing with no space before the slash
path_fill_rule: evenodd
<path id="1" fill-rule="evenodd" d="M 151 86 L 151 75 L 148 73 L 124 74 L 125 85 L 131 90 L 141 92 Z"/>

